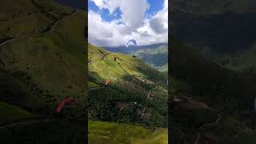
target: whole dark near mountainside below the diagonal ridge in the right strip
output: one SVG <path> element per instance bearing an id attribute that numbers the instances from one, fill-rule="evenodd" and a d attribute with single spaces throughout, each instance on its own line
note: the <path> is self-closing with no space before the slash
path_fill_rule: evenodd
<path id="1" fill-rule="evenodd" d="M 254 143 L 256 79 L 219 66 L 176 38 L 171 48 L 171 141 Z"/>

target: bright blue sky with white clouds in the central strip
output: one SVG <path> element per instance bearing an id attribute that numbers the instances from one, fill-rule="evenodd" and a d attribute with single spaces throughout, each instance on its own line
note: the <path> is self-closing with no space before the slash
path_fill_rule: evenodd
<path id="1" fill-rule="evenodd" d="M 88 40 L 96 46 L 168 42 L 168 0 L 89 0 Z"/>

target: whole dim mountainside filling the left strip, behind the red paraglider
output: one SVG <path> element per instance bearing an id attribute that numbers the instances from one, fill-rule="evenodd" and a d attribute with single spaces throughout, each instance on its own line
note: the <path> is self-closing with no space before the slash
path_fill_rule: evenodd
<path id="1" fill-rule="evenodd" d="M 0 143 L 84 142 L 85 11 L 51 0 L 0 3 L 0 110 L 10 113 Z M 78 106 L 60 118 L 55 109 L 64 98 Z M 12 118 L 17 111 L 24 115 Z"/>

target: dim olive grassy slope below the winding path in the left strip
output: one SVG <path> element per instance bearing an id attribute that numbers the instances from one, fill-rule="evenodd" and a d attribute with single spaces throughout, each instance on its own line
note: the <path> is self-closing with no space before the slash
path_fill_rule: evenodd
<path id="1" fill-rule="evenodd" d="M 45 6 L 46 10 L 49 7 L 56 8 L 47 2 L 42 6 Z M 62 14 L 62 10 L 58 13 Z M 17 38 L 1 46 L 3 69 L 28 74 L 31 81 L 38 84 L 40 90 L 60 98 L 59 100 L 74 97 L 83 101 L 85 84 L 82 79 L 85 79 L 85 75 L 82 54 L 85 47 L 85 15 L 78 10 L 70 18 L 61 20 L 49 33 L 32 34 L 30 38 Z M 20 105 L 22 104 L 24 103 L 21 102 Z M 56 105 L 54 102 L 51 104 Z"/>

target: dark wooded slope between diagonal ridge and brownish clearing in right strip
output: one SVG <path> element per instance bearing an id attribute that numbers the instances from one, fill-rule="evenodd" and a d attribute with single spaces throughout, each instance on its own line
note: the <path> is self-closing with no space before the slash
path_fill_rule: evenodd
<path id="1" fill-rule="evenodd" d="M 206 95 L 211 99 L 210 101 L 225 102 L 225 98 L 238 98 L 250 99 L 250 94 L 245 96 L 241 94 L 243 90 L 254 91 L 253 86 L 250 86 L 251 83 L 254 83 L 254 78 L 246 78 L 245 75 L 238 74 L 234 71 L 227 70 L 218 66 L 218 64 L 206 60 L 200 54 L 196 53 L 191 48 L 188 48 L 182 45 L 177 40 L 173 39 L 172 50 L 171 50 L 171 65 L 172 72 L 175 78 L 182 79 L 192 86 L 190 89 L 194 91 L 194 94 L 204 96 Z M 242 85 L 243 84 L 243 85 Z M 242 86 L 245 89 L 242 89 Z M 235 87 L 240 87 L 237 94 L 232 92 Z M 225 92 L 229 90 L 230 92 Z M 224 94 L 222 96 L 222 94 Z M 228 96 L 228 95 L 229 96 Z M 243 97 L 241 95 L 243 95 Z M 211 98 L 209 98 L 211 97 Z M 223 98 L 222 100 L 218 98 Z M 250 100 L 249 100 L 250 99 Z"/>

